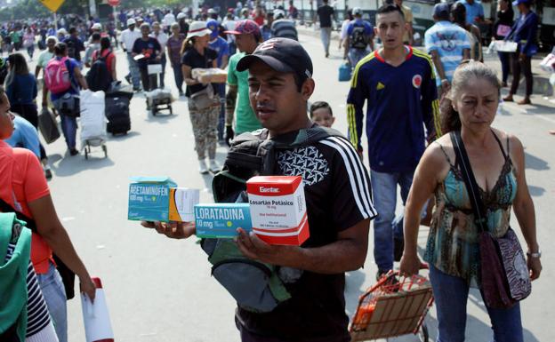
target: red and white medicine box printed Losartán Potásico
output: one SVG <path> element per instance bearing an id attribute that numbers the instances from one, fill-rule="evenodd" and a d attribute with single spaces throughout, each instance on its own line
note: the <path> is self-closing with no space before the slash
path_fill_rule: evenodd
<path id="1" fill-rule="evenodd" d="M 300 246 L 310 236 L 300 176 L 257 176 L 246 182 L 253 232 L 270 244 Z"/>

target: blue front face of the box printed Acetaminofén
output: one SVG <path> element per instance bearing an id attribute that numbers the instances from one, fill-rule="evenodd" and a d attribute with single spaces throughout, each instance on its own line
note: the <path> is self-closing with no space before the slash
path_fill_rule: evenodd
<path id="1" fill-rule="evenodd" d="M 168 177 L 134 177 L 131 180 L 127 219 L 167 222 L 170 188 L 177 184 Z"/>

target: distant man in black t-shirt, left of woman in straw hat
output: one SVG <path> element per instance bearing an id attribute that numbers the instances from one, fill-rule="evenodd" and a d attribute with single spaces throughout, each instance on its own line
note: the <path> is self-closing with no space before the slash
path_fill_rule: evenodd
<path id="1" fill-rule="evenodd" d="M 149 64 L 159 64 L 162 59 L 162 47 L 157 38 L 151 37 L 150 25 L 148 23 L 141 24 L 141 39 L 137 39 L 133 44 L 133 58 L 141 55 L 141 59 L 137 60 L 137 67 L 141 72 L 142 89 L 145 91 L 153 91 L 157 89 L 157 74 L 149 75 Z"/>

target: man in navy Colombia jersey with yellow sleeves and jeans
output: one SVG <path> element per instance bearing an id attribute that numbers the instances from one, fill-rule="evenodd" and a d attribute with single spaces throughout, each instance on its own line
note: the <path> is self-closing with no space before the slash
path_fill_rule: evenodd
<path id="1" fill-rule="evenodd" d="M 386 4 L 378 10 L 375 31 L 383 47 L 358 62 L 347 115 L 350 141 L 362 156 L 362 107 L 367 102 L 368 158 L 379 213 L 374 221 L 374 258 L 380 275 L 393 268 L 393 232 L 402 251 L 402 219 L 395 219 L 397 185 L 405 203 L 426 146 L 424 127 L 429 139 L 441 131 L 430 56 L 403 44 L 406 22 L 398 6 Z"/>

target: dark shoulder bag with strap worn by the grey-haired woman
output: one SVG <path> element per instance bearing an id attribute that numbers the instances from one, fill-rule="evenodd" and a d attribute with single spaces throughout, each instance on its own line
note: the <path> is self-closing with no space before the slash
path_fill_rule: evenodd
<path id="1" fill-rule="evenodd" d="M 527 260 L 519 238 L 509 227 L 502 237 L 487 229 L 487 212 L 479 195 L 479 187 L 461 139 L 461 131 L 451 132 L 454 153 L 469 194 L 474 222 L 479 229 L 480 276 L 486 305 L 509 308 L 527 298 L 532 291 Z"/>

